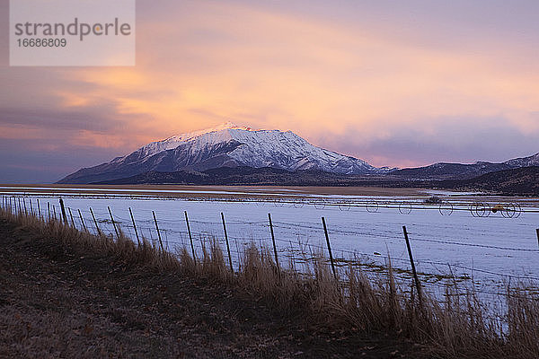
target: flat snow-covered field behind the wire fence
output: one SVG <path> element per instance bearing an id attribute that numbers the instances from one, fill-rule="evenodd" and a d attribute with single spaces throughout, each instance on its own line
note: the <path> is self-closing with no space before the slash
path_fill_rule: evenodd
<path id="1" fill-rule="evenodd" d="M 102 231 L 114 233 L 107 208 L 110 206 L 115 222 L 134 241 L 136 235 L 128 208 L 133 211 L 138 234 L 150 241 L 157 239 L 154 211 L 163 246 L 169 250 L 179 246 L 190 248 L 184 216 L 187 211 L 198 257 L 201 243 L 208 238 L 216 238 L 225 246 L 220 215 L 223 213 L 234 265 L 237 265 L 237 253 L 252 241 L 271 247 L 270 213 L 281 265 L 289 266 L 288 259 L 293 258 L 298 270 L 302 269 L 305 258 L 313 254 L 322 252 L 327 257 L 321 221 L 321 217 L 325 217 L 333 257 L 339 259 L 340 265 L 344 265 L 345 259 L 361 258 L 370 271 L 376 272 L 386 265 L 389 254 L 393 267 L 405 270 L 401 276 L 410 277 L 410 261 L 402 233 L 405 225 L 420 279 L 433 291 L 443 287 L 451 272 L 461 283 L 473 278 L 476 289 L 484 296 L 503 292 L 508 281 L 514 284 L 519 280 L 539 280 L 535 232 L 539 228 L 539 203 L 530 198 L 471 197 L 444 191 L 403 197 L 214 189 L 192 192 L 182 189 L 181 197 L 156 197 L 157 190 L 146 191 L 146 194 L 97 190 L 84 195 L 77 190 L 63 188 L 51 193 L 43 188 L 31 188 L 31 191 L 0 188 L 4 197 L 13 197 L 13 201 L 15 197 L 25 197 L 28 211 L 37 212 L 39 198 L 40 211 L 45 216 L 48 203 L 51 215 L 55 211 L 59 215 L 58 197 L 63 197 L 66 207 L 71 209 L 75 226 L 82 228 L 80 210 L 85 225 L 92 232 L 96 229 L 90 207 Z M 442 197 L 444 204 L 424 204 L 429 195 Z M 3 203 L 6 201 L 4 199 Z M 474 205 L 478 201 L 482 205 Z"/>

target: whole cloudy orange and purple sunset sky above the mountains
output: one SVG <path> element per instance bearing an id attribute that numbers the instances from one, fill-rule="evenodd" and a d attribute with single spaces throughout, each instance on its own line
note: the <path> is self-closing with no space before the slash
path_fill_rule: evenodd
<path id="1" fill-rule="evenodd" d="M 137 66 L 10 67 L 0 182 L 52 182 L 225 121 L 376 166 L 539 152 L 539 2 L 137 1 Z"/>

